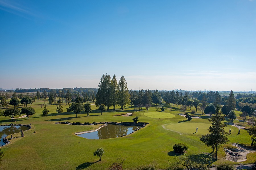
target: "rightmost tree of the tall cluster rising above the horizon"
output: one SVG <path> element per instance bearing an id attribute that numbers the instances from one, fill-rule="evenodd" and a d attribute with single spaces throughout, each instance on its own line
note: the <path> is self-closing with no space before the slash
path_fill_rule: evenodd
<path id="1" fill-rule="evenodd" d="M 129 104 L 130 102 L 130 94 L 129 90 L 127 88 L 127 83 L 125 81 L 124 76 L 121 76 L 119 83 L 118 83 L 118 93 L 117 93 L 117 98 L 118 98 L 118 105 L 121 106 L 121 110 L 123 110 L 123 107 L 125 107 L 126 104 Z"/>

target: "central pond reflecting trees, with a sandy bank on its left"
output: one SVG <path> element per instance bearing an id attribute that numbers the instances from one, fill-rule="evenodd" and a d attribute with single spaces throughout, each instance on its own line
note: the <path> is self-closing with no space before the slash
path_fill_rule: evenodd
<path id="1" fill-rule="evenodd" d="M 103 126 L 97 131 L 82 133 L 77 136 L 84 137 L 86 139 L 109 139 L 128 135 L 129 133 L 132 133 L 135 129 L 138 129 L 138 126 L 108 124 L 107 126 Z"/>

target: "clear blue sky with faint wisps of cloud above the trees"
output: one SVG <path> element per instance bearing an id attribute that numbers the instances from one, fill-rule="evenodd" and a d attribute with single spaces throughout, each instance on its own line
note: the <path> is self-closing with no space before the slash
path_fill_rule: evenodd
<path id="1" fill-rule="evenodd" d="M 0 0 L 0 87 L 256 89 L 256 1 Z"/>

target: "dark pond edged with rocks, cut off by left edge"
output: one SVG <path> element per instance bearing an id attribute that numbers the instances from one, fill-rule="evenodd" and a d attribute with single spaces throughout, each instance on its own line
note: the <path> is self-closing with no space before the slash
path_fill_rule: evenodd
<path id="1" fill-rule="evenodd" d="M 20 132 L 20 130 L 28 130 L 29 128 L 26 126 L 0 126 L 0 136 L 1 136 L 1 141 L 0 141 L 0 146 L 5 145 L 5 143 L 3 143 L 3 137 L 6 137 L 7 135 L 11 135 L 13 133 L 18 133 Z M 21 136 L 21 133 L 20 133 Z M 7 137 L 11 138 L 11 136 Z"/>

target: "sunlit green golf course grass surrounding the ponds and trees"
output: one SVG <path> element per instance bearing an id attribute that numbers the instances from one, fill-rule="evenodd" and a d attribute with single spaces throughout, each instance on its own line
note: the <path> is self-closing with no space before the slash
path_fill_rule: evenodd
<path id="1" fill-rule="evenodd" d="M 96 110 L 92 105 L 93 112 L 87 116 L 82 112 L 76 115 L 66 112 L 68 105 L 63 104 L 64 113 L 56 113 L 56 106 L 48 105 L 50 110 L 48 116 L 43 116 L 44 107 L 41 105 L 47 101 L 36 101 L 32 105 L 36 109 L 36 114 L 27 118 L 16 119 L 16 124 L 32 124 L 32 129 L 24 131 L 25 137 L 21 138 L 20 133 L 13 136 L 11 144 L 4 146 L 1 150 L 5 153 L 2 159 L 2 169 L 108 169 L 118 157 L 125 157 L 124 169 L 136 169 L 140 165 L 155 164 L 159 169 L 165 169 L 173 162 L 176 155 L 172 146 L 176 143 L 186 143 L 189 146 L 188 153 L 210 153 L 212 150 L 199 140 L 202 134 L 208 133 L 210 122 L 206 115 L 201 115 L 198 111 L 199 119 L 187 121 L 185 117 L 179 116 L 179 106 L 172 106 L 172 111 L 166 109 L 164 112 L 156 111 L 155 107 L 150 107 L 147 111 L 134 111 L 134 107 L 127 106 L 121 111 L 120 107 L 114 111 L 103 112 Z M 18 107 L 22 107 L 21 105 Z M 164 103 L 164 107 L 170 108 Z M 195 109 L 195 108 L 191 108 Z M 134 112 L 133 116 L 114 116 L 115 114 Z M 189 109 L 187 110 L 189 112 Z M 237 112 L 236 112 L 237 113 Z M 239 114 L 239 113 L 238 113 Z M 97 129 L 100 125 L 75 126 L 65 124 L 54 124 L 55 122 L 131 122 L 132 118 L 139 116 L 139 122 L 149 122 L 149 124 L 139 131 L 125 137 L 112 139 L 85 139 L 76 136 L 74 133 L 86 130 Z M 228 122 L 228 120 L 227 120 Z M 236 122 L 236 121 L 234 121 Z M 11 118 L 0 116 L 0 124 L 9 124 Z M 196 132 L 198 128 L 198 132 Z M 246 130 L 228 125 L 225 130 L 231 129 L 231 135 L 227 137 L 230 143 L 250 144 L 250 136 Z M 36 133 L 33 133 L 36 131 Z M 104 148 L 105 154 L 102 161 L 93 156 L 97 148 Z M 224 147 L 224 146 L 223 146 Z M 218 151 L 218 161 L 211 160 L 209 164 L 219 164 L 228 162 L 224 159 L 223 147 Z M 256 159 L 255 153 L 247 155 L 247 161 L 239 163 L 253 163 Z M 170 162 L 169 162 L 170 161 Z M 239 164 L 230 162 L 232 164 Z"/>

